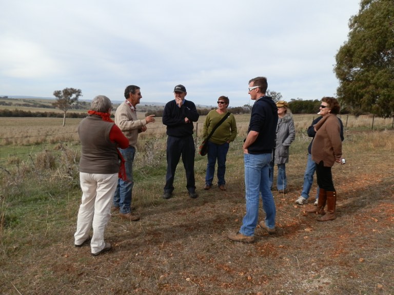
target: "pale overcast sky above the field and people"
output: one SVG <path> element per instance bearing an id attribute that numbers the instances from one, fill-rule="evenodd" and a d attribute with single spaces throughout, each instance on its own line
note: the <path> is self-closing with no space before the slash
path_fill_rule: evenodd
<path id="1" fill-rule="evenodd" d="M 230 106 L 250 102 L 249 79 L 266 76 L 284 100 L 335 96 L 335 55 L 360 0 L 13 0 L 0 8 L 0 95 Z"/>

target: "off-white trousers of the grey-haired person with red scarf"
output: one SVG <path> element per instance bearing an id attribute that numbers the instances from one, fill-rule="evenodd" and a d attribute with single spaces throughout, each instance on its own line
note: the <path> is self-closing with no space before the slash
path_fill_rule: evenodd
<path id="1" fill-rule="evenodd" d="M 100 252 L 105 247 L 104 230 L 111 217 L 111 202 L 117 185 L 118 174 L 80 173 L 82 202 L 78 211 L 75 244 L 80 245 L 89 237 L 92 253 Z"/>

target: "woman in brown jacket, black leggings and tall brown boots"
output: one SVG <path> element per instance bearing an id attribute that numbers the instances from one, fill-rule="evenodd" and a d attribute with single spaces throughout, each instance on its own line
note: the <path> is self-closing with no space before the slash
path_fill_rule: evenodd
<path id="1" fill-rule="evenodd" d="M 332 182 L 331 167 L 342 160 L 341 125 L 337 114 L 340 111 L 338 100 L 323 97 L 320 115 L 323 117 L 314 125 L 316 135 L 312 143 L 312 160 L 316 162 L 316 175 L 320 187 L 318 206 L 308 209 L 308 213 L 319 213 L 318 221 L 336 219 L 335 207 L 337 192 Z M 327 213 L 324 207 L 327 203 Z"/>

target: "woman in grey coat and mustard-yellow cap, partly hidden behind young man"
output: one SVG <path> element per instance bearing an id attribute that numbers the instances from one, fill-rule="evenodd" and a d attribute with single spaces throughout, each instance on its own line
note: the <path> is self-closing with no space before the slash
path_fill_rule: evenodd
<path id="1" fill-rule="evenodd" d="M 280 100 L 278 107 L 277 138 L 275 140 L 274 159 L 269 167 L 269 179 L 271 188 L 273 184 L 273 166 L 278 164 L 277 188 L 280 193 L 285 193 L 287 186 L 286 163 L 289 161 L 289 147 L 295 138 L 293 115 L 288 108 L 287 102 Z"/>

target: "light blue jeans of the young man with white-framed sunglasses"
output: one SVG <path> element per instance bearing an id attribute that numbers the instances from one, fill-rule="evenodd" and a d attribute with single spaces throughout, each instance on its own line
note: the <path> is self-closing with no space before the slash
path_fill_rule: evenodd
<path id="1" fill-rule="evenodd" d="M 240 233 L 253 236 L 259 218 L 260 193 L 265 212 L 265 224 L 268 228 L 275 227 L 277 213 L 275 202 L 269 187 L 269 162 L 271 154 L 244 154 L 245 161 L 245 199 L 246 215 L 242 220 Z"/>

